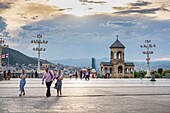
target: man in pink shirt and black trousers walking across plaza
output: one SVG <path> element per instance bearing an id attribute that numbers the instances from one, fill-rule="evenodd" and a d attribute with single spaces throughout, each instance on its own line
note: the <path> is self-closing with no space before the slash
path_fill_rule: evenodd
<path id="1" fill-rule="evenodd" d="M 47 92 L 46 92 L 47 97 L 51 96 L 50 87 L 53 82 L 53 78 L 54 76 L 52 75 L 52 73 L 48 71 L 48 68 L 46 68 L 45 73 L 43 74 L 42 84 L 44 84 L 44 79 L 45 79 L 46 87 L 47 87 Z"/>

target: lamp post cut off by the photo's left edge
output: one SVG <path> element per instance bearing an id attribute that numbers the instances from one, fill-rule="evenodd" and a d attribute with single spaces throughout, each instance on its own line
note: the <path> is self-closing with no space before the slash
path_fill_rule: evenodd
<path id="1" fill-rule="evenodd" d="M 1 37 L 5 37 L 5 36 L 1 36 Z M 9 45 L 6 45 L 5 41 L 2 38 L 0 38 L 0 72 L 2 72 L 2 48 L 8 48 L 8 47 Z"/>

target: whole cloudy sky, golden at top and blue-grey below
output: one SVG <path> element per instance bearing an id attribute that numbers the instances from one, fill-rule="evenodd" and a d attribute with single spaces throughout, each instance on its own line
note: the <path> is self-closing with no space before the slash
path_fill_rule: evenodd
<path id="1" fill-rule="evenodd" d="M 11 48 L 36 57 L 31 40 L 42 34 L 47 60 L 109 57 L 119 35 L 127 61 L 145 60 L 144 40 L 156 44 L 153 60 L 170 60 L 169 0 L 0 0 L 0 35 Z"/>

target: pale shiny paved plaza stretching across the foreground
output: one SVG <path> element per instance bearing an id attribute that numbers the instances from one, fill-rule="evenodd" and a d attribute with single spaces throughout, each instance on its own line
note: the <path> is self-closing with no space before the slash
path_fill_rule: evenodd
<path id="1" fill-rule="evenodd" d="M 0 113 L 170 113 L 170 79 L 64 79 L 63 96 L 46 98 L 41 79 L 0 81 Z"/>

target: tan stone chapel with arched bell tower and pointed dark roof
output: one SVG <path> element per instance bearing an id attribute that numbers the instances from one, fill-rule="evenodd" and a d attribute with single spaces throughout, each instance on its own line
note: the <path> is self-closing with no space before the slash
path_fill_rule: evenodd
<path id="1" fill-rule="evenodd" d="M 125 62 L 124 60 L 125 46 L 117 40 L 110 46 L 110 62 L 101 62 L 100 70 L 105 76 L 110 74 L 112 78 L 134 78 L 133 62 Z"/>

